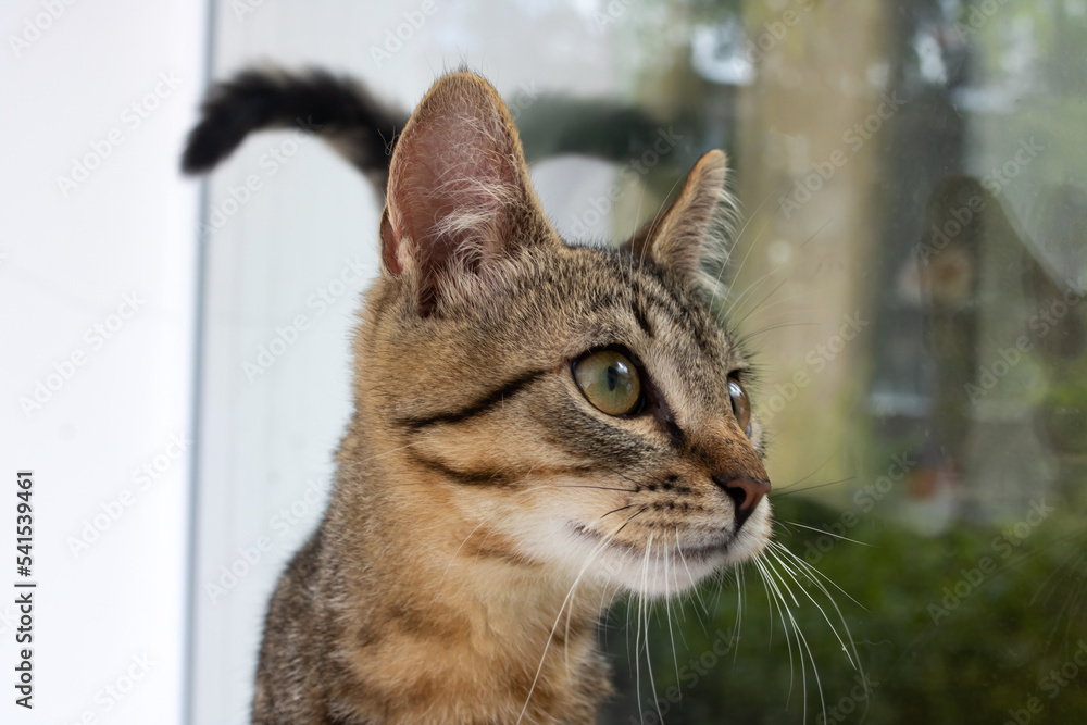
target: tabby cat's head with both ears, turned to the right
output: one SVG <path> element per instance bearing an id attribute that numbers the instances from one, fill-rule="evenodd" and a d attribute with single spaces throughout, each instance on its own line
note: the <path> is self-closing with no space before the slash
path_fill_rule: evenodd
<path id="1" fill-rule="evenodd" d="M 662 593 L 766 546 L 748 363 L 703 279 L 725 174 L 711 151 L 625 245 L 572 247 L 493 88 L 453 73 L 415 110 L 357 395 L 403 493 L 477 526 L 476 553 Z"/>

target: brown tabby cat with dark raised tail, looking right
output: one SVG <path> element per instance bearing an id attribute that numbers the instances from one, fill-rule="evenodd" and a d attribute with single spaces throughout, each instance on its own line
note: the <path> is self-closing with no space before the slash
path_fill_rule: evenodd
<path id="1" fill-rule="evenodd" d="M 261 78 L 261 111 L 232 115 Z M 441 76 L 405 121 L 332 76 L 240 79 L 210 95 L 187 170 L 312 114 L 387 179 L 354 411 L 267 610 L 252 722 L 595 722 L 615 597 L 674 596 L 771 538 L 749 358 L 711 312 L 725 154 L 623 245 L 572 246 L 482 77 Z"/>

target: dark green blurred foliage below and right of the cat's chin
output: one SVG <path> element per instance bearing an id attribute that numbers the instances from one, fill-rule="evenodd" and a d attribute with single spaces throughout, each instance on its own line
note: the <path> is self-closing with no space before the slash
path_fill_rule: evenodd
<path id="1" fill-rule="evenodd" d="M 836 518 L 833 511 L 789 497 L 775 505 L 778 521 Z M 1073 658 L 1080 643 L 1087 651 L 1087 535 L 1076 517 L 1054 512 L 1023 538 L 1014 528 L 972 525 L 928 538 L 871 517 L 850 532 L 869 546 L 839 540 L 822 558 L 807 548 L 819 534 L 800 528 L 778 534 L 794 552 L 808 550 L 809 561 L 846 592 L 824 583 L 841 608 L 871 686 L 864 722 L 999 724 L 1011 717 L 1010 710 L 1028 708 L 1030 698 L 1041 708 L 1032 722 L 1085 722 L 1087 667 Z M 992 566 L 983 565 L 986 560 Z M 860 673 L 838 641 L 836 632 L 849 643 L 826 593 L 812 583 L 801 591 L 788 582 L 799 602 L 790 612 L 807 642 L 801 664 L 796 636 L 790 633 L 786 640 L 755 571 L 747 567 L 744 578 L 735 641 L 737 582 L 732 577 L 702 587 L 678 607 L 673 603 L 671 634 L 664 605 L 652 608 L 652 689 L 644 650 L 640 683 L 634 668 L 637 602 L 613 613 L 605 639 L 623 699 L 601 722 L 660 722 L 653 692 L 665 723 L 801 723 L 805 710 L 808 722 L 862 722 Z M 1074 667 L 1076 675 L 1060 686 L 1049 673 L 1069 662 L 1065 674 Z"/>

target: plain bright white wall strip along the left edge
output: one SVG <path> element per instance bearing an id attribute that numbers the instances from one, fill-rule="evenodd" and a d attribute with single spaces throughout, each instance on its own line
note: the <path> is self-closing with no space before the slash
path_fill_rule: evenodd
<path id="1" fill-rule="evenodd" d="M 190 450 L 171 440 L 191 435 L 199 187 L 177 158 L 202 91 L 203 3 L 9 0 L 0 37 L 0 722 L 180 723 Z M 105 158 L 62 190 L 96 147 Z M 55 390 L 21 404 L 39 382 Z M 155 463 L 141 489 L 133 472 Z M 32 711 L 12 689 L 22 467 L 36 476 Z M 96 516 L 109 527 L 73 553 Z"/>

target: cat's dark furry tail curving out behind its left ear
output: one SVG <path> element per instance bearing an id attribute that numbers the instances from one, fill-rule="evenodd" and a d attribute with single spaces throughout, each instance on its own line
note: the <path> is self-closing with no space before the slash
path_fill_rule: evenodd
<path id="1" fill-rule="evenodd" d="M 327 71 L 242 71 L 209 91 L 182 171 L 211 171 L 253 132 L 298 128 L 324 139 L 384 191 L 407 122 L 407 114 L 385 107 L 359 83 Z"/>

